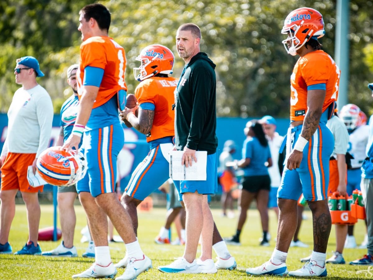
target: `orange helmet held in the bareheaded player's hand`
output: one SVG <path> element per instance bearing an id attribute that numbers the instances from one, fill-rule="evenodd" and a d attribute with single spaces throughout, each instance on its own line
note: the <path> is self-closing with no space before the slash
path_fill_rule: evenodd
<path id="1" fill-rule="evenodd" d="M 87 161 L 81 152 L 60 148 L 50 147 L 42 152 L 36 162 L 37 171 L 48 184 L 71 186 L 85 176 Z"/>

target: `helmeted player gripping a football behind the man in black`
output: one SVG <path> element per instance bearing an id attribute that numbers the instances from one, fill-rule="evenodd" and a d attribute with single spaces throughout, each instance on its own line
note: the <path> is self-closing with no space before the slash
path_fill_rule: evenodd
<path id="1" fill-rule="evenodd" d="M 172 139 L 175 136 L 172 105 L 175 103 L 174 91 L 178 79 L 168 77 L 168 74 L 172 74 L 174 59 L 171 50 L 165 46 L 154 44 L 145 47 L 136 58 L 141 62 L 140 67 L 134 68 L 135 78 L 141 81 L 135 89 L 139 105 L 132 109 L 125 108 L 120 113 L 127 126 L 147 136 L 150 145 L 150 152 L 132 173 L 121 199 L 131 215 L 135 233 L 138 227 L 137 206 L 169 179 L 168 152 L 174 146 Z M 137 109 L 138 116 L 135 115 Z M 213 248 L 218 255 L 216 268 L 236 268 L 236 261 L 216 227 Z M 116 267 L 125 267 L 127 264 L 128 256 L 125 256 Z"/>

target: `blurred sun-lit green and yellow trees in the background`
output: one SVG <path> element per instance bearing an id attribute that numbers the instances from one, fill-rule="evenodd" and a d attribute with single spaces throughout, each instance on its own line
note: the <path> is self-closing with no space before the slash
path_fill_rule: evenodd
<path id="1" fill-rule="evenodd" d="M 0 3 L 0 97 L 6 112 L 13 92 L 15 59 L 34 55 L 46 77 L 40 79 L 59 108 L 72 93 L 66 69 L 76 63 L 81 43 L 78 12 L 91 1 L 6 0 Z M 202 31 L 201 50 L 216 63 L 218 116 L 288 116 L 289 77 L 296 58 L 285 52 L 280 33 L 283 20 L 293 9 L 310 6 L 324 16 L 326 35 L 320 42 L 334 56 L 336 1 L 323 0 L 112 0 L 101 1 L 112 13 L 109 35 L 126 51 L 126 82 L 136 85 L 135 57 L 148 44 L 169 47 L 176 56 L 174 75 L 184 66 L 175 49 L 180 24 L 194 22 Z M 372 98 L 373 20 L 372 1 L 350 1 L 349 102 L 367 114 Z M 347 59 L 347 58 L 346 58 Z"/>

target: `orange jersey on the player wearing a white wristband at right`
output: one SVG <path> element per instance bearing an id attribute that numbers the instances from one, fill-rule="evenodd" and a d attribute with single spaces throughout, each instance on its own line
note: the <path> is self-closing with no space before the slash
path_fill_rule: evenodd
<path id="1" fill-rule="evenodd" d="M 323 112 L 338 97 L 341 71 L 330 55 L 316 50 L 298 59 L 294 66 L 290 83 L 290 120 L 303 121 L 307 113 L 307 87 L 326 84 Z"/>

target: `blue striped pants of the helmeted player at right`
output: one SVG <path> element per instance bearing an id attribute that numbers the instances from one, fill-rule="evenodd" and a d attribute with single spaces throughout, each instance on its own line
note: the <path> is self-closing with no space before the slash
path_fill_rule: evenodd
<path id="1" fill-rule="evenodd" d="M 290 127 L 287 134 L 286 157 L 301 134 L 303 125 Z M 325 200 L 329 185 L 329 159 L 334 148 L 334 137 L 325 123 L 320 122 L 316 132 L 303 150 L 300 167 L 289 170 L 285 167 L 278 190 L 278 197 L 298 200 L 303 192 L 308 201 Z"/>

